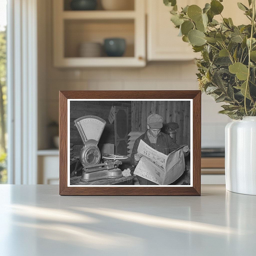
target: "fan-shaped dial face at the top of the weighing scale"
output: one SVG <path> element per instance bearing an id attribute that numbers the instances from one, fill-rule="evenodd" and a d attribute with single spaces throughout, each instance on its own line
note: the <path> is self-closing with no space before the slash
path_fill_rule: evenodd
<path id="1" fill-rule="evenodd" d="M 82 116 L 74 121 L 80 136 L 85 144 L 88 140 L 99 142 L 101 134 L 105 128 L 106 121 L 98 116 Z"/>

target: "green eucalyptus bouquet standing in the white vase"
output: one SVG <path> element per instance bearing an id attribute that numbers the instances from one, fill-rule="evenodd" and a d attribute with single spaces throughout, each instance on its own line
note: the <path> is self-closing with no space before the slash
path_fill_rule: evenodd
<path id="1" fill-rule="evenodd" d="M 178 11 L 176 0 L 164 0 L 173 6 L 171 21 L 179 29 L 183 41 L 201 52 L 197 60 L 199 88 L 216 102 L 225 102 L 219 113 L 232 119 L 256 116 L 256 34 L 255 0 L 248 6 L 237 3 L 249 19 L 249 24 L 235 26 L 224 18 L 222 0 L 206 3 L 201 9 L 190 5 Z M 214 19 L 221 16 L 222 22 Z"/>

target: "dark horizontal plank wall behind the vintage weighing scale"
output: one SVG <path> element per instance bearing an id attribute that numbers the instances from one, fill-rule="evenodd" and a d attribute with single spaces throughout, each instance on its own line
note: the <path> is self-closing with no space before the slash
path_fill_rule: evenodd
<path id="1" fill-rule="evenodd" d="M 85 115 L 95 115 L 105 120 L 106 126 L 99 143 L 115 144 L 114 122 L 109 123 L 111 106 L 128 107 L 128 133 L 131 131 L 131 101 L 70 101 L 70 143 L 73 143 L 73 155 L 79 155 L 83 146 L 81 136 L 74 126 L 74 120 Z"/>

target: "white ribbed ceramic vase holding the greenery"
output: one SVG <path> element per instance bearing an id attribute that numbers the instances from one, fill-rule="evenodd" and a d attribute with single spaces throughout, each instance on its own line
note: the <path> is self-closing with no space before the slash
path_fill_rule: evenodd
<path id="1" fill-rule="evenodd" d="M 225 173 L 227 190 L 256 195 L 256 116 L 226 125 Z"/>

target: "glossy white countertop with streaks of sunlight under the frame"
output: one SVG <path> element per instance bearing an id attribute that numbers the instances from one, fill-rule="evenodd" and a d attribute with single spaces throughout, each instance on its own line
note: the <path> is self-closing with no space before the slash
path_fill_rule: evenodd
<path id="1" fill-rule="evenodd" d="M 1 255 L 255 255 L 256 196 L 59 196 L 0 185 Z"/>

